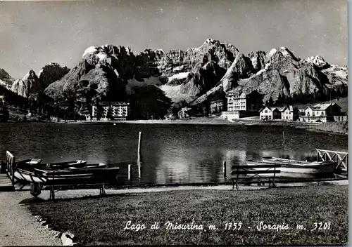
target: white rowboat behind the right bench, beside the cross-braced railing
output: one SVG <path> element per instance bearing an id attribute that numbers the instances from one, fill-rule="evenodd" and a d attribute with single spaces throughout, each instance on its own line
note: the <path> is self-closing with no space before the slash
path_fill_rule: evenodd
<path id="1" fill-rule="evenodd" d="M 247 161 L 249 165 L 264 165 L 268 162 L 263 161 Z M 308 173 L 308 174 L 333 174 L 337 166 L 336 161 L 314 161 L 308 163 L 280 163 L 281 167 L 279 170 L 281 173 Z M 265 168 L 254 168 L 254 169 L 265 169 Z"/>

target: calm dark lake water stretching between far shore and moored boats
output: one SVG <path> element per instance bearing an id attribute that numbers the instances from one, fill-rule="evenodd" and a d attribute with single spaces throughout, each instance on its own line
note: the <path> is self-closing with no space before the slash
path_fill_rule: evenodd
<path id="1" fill-rule="evenodd" d="M 75 159 L 110 166 L 132 163 L 132 182 L 127 181 L 127 164 L 119 165 L 122 184 L 223 182 L 223 161 L 229 167 L 261 156 L 313 161 L 315 149 L 348 152 L 347 142 L 346 135 L 282 126 L 0 123 L 0 160 L 6 161 L 9 150 L 16 160 L 40 158 L 42 163 Z"/>

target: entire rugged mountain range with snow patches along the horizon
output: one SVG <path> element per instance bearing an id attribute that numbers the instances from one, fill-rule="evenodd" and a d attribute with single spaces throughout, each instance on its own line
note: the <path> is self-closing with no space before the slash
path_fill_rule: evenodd
<path id="1" fill-rule="evenodd" d="M 346 66 L 330 65 L 320 55 L 301 59 L 286 47 L 245 55 L 213 39 L 187 51 L 146 49 L 137 54 L 125 46 L 91 46 L 72 69 L 51 63 L 38 75 L 30 70 L 17 80 L 0 69 L 0 85 L 25 98 L 44 92 L 57 102 L 67 95 L 80 102 L 124 101 L 136 91 L 152 92 L 158 95 L 154 100 L 177 109 L 196 107 L 239 88 L 258 91 L 265 103 L 282 95 L 312 95 L 347 81 Z M 170 100 L 160 98 L 163 94 Z"/>

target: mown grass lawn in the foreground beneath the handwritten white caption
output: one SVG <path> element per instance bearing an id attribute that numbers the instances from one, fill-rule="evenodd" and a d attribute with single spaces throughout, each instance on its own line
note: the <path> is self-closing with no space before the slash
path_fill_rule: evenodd
<path id="1" fill-rule="evenodd" d="M 347 186 L 148 192 L 30 200 L 27 206 L 34 215 L 47 218 L 54 229 L 75 234 L 75 241 L 84 245 L 316 245 L 348 241 Z M 129 220 L 134 225 L 144 224 L 146 229 L 125 230 Z M 203 225 L 203 230 L 166 229 L 168 221 L 193 222 Z M 284 223 L 289 229 L 258 231 L 256 225 L 261 221 Z M 154 222 L 159 222 L 159 229 L 150 228 Z M 225 229 L 230 222 L 241 222 L 241 229 Z M 315 222 L 329 222 L 330 227 L 313 230 Z M 208 229 L 210 224 L 217 229 Z M 306 229 L 296 229 L 297 224 Z"/>

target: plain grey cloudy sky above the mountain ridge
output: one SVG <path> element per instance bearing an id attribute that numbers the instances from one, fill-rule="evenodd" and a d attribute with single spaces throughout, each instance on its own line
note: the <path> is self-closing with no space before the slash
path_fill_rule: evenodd
<path id="1" fill-rule="evenodd" d="M 1 2 L 1 1 L 0 1 Z M 89 46 L 164 51 L 206 39 L 241 53 L 286 46 L 347 65 L 346 0 L 2 1 L 0 68 L 14 78 L 50 62 L 74 67 Z"/>

